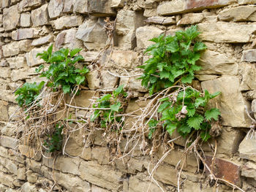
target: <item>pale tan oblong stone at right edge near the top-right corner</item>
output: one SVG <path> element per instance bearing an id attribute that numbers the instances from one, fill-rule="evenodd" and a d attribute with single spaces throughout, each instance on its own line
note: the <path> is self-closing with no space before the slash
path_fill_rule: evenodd
<path id="1" fill-rule="evenodd" d="M 256 21 L 256 7 L 239 6 L 219 12 L 219 20 Z"/>

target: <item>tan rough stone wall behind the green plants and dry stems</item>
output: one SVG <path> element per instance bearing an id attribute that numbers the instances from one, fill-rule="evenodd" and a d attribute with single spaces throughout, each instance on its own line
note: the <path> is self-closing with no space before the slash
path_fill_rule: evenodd
<path id="1" fill-rule="evenodd" d="M 34 155 L 31 146 L 19 143 L 20 130 L 9 118 L 17 107 L 14 91 L 24 82 L 39 81 L 34 69 L 42 60 L 36 55 L 52 43 L 55 50 L 83 48 L 81 54 L 91 72 L 89 90 L 76 98 L 78 106 L 88 107 L 98 91 L 125 84 L 134 96 L 127 110 L 140 108 L 143 103 L 136 100 L 148 93 L 137 77 L 127 76 L 141 73 L 136 66 L 147 59 L 143 50 L 152 43 L 148 39 L 175 34 L 191 24 L 197 24 L 200 39 L 208 47 L 200 59 L 203 69 L 197 72 L 197 80 L 210 92 L 222 91 L 213 103 L 222 112 L 215 173 L 244 191 L 256 191 L 256 139 L 252 131 L 247 134 L 252 120 L 245 111 L 246 106 L 256 115 L 254 4 L 255 0 L 1 0 L 0 191 L 50 191 L 55 181 L 53 191 L 177 191 L 175 166 L 184 151 L 183 139 L 174 141 L 174 150 L 154 172 L 154 182 L 148 172 L 155 158 L 164 154 L 164 147 L 152 158 L 138 145 L 132 155 L 113 161 L 101 131 L 93 135 L 94 145 L 86 148 L 83 131 L 75 131 L 67 142 L 67 155 L 53 160 Z M 111 22 L 113 49 L 100 52 L 112 45 L 105 31 Z M 214 139 L 202 146 L 208 164 L 214 146 Z M 194 154 L 187 157 L 181 191 L 233 191 L 224 183 L 212 185 L 207 173 L 196 174 L 198 161 Z"/>

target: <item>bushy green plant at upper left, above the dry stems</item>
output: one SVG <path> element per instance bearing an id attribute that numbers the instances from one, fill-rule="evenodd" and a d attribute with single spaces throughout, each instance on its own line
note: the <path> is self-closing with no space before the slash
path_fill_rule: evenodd
<path id="1" fill-rule="evenodd" d="M 86 66 L 83 69 L 78 69 L 75 66 L 78 61 L 83 61 L 82 55 L 76 55 L 80 50 L 62 48 L 52 53 L 53 45 L 50 45 L 47 51 L 37 54 L 46 63 L 50 64 L 49 69 L 42 72 L 41 75 L 41 77 L 47 77 L 50 80 L 48 86 L 56 89 L 61 85 L 64 93 L 71 93 L 75 85 L 85 82 L 85 74 L 89 72 L 89 69 Z M 36 72 L 40 72 L 42 69 L 44 69 L 43 65 L 39 66 Z"/>

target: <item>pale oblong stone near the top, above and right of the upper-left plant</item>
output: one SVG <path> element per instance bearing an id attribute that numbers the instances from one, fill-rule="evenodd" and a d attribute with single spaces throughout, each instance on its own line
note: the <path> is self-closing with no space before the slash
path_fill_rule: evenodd
<path id="1" fill-rule="evenodd" d="M 80 26 L 83 23 L 83 17 L 74 15 L 74 16 L 63 16 L 56 20 L 50 21 L 53 28 L 57 30 L 61 30 L 64 28 L 72 28 L 76 26 Z"/>

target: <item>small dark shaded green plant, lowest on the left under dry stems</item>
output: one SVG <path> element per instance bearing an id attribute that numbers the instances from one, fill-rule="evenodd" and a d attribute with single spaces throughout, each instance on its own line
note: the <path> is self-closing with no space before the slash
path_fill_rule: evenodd
<path id="1" fill-rule="evenodd" d="M 64 126 L 61 126 L 59 123 L 54 127 L 55 130 L 53 134 L 48 134 L 48 139 L 45 140 L 44 144 L 47 147 L 47 152 L 60 151 L 62 147 L 62 129 Z"/>

